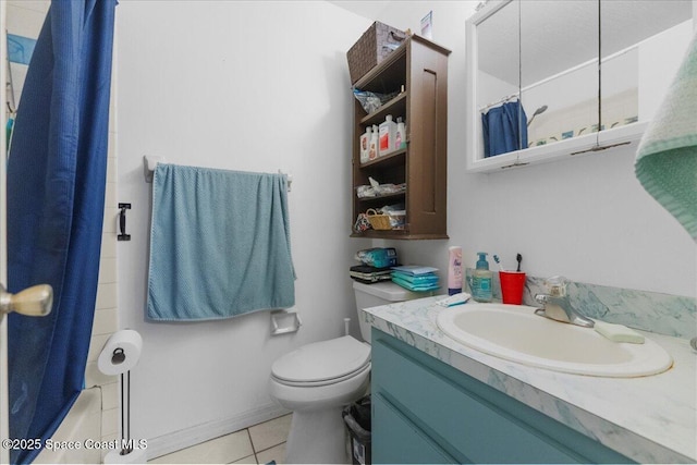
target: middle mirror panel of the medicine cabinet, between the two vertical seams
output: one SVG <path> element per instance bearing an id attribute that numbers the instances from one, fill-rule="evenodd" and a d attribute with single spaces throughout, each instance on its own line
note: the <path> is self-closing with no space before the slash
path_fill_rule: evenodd
<path id="1" fill-rule="evenodd" d="M 527 147 L 598 131 L 598 2 L 516 3 Z"/>

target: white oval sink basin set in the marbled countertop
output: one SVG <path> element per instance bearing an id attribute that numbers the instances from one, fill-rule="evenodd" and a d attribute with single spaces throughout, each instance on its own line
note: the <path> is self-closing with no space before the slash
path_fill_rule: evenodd
<path id="1" fill-rule="evenodd" d="M 469 303 L 443 309 L 437 321 L 450 338 L 477 351 L 555 371 L 629 378 L 673 365 L 668 352 L 649 339 L 644 344 L 612 342 L 523 305 Z"/>

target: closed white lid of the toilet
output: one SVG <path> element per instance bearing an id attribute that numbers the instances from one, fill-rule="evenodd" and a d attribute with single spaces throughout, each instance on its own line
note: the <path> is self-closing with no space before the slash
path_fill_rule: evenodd
<path id="1" fill-rule="evenodd" d="M 283 355 L 271 374 L 290 382 L 316 382 L 341 378 L 370 362 L 370 346 L 350 335 L 314 342 Z"/>

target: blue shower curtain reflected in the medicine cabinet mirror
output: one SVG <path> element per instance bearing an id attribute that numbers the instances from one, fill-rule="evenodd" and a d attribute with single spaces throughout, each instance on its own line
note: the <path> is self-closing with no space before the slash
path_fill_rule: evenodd
<path id="1" fill-rule="evenodd" d="M 527 148 L 527 117 L 519 101 L 510 101 L 481 114 L 485 158 Z"/>

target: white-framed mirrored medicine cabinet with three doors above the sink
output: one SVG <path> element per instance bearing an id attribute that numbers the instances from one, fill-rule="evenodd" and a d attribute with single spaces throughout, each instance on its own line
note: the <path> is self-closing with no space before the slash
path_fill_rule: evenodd
<path id="1" fill-rule="evenodd" d="M 636 144 L 693 36 L 694 0 L 489 0 L 467 21 L 467 170 Z"/>

